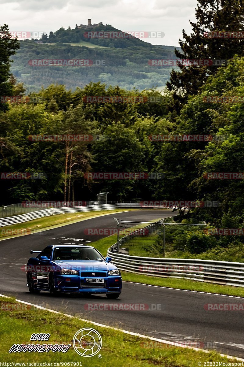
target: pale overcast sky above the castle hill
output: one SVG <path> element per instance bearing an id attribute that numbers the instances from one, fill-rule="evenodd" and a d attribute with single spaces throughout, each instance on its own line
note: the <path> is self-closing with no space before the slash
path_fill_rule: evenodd
<path id="1" fill-rule="evenodd" d="M 0 0 L 0 24 L 10 31 L 44 31 L 61 26 L 102 22 L 125 32 L 161 31 L 164 38 L 145 39 L 152 44 L 179 46 L 182 29 L 191 32 L 197 0 Z"/>

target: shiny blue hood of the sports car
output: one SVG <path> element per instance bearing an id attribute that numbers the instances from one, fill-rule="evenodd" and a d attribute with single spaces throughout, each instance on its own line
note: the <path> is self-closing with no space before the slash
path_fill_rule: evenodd
<path id="1" fill-rule="evenodd" d="M 79 271 L 108 271 L 108 270 L 115 270 L 117 267 L 110 262 L 106 262 L 103 260 L 70 260 L 70 261 L 61 261 L 55 260 L 53 264 L 60 266 L 63 269 L 72 269 L 72 270 L 79 270 Z"/>

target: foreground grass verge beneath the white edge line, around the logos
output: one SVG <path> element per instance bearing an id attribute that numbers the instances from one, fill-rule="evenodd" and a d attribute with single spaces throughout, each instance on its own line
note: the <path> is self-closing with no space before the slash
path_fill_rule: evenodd
<path id="1" fill-rule="evenodd" d="M 14 303 L 20 309 L 5 310 L 7 307 L 12 307 L 11 305 Z M 161 343 L 158 343 L 157 348 L 145 348 L 145 345 L 148 345 L 147 341 L 150 341 L 149 339 L 94 326 L 79 319 L 71 319 L 65 315 L 54 314 L 45 310 L 26 309 L 27 307 L 27 305 L 14 302 L 13 299 L 0 298 L 1 362 L 79 362 L 79 366 L 87 367 L 195 367 L 198 365 L 197 363 L 202 363 L 202 366 L 204 366 L 206 361 L 230 362 L 229 359 L 221 357 L 214 351 L 204 353 L 187 348 L 172 346 L 169 348 L 166 344 Z M 100 333 L 102 337 L 102 348 L 99 352 L 102 355 L 101 359 L 98 358 L 98 354 L 89 358 L 79 356 L 73 347 L 67 353 L 8 353 L 8 350 L 14 344 L 72 344 L 76 331 L 84 327 L 94 328 Z M 49 341 L 30 341 L 33 333 L 49 333 Z M 234 360 L 231 361 L 234 362 Z"/>

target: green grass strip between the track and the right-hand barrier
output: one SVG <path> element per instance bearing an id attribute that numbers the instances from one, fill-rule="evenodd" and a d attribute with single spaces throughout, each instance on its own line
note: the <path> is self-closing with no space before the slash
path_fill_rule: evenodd
<path id="1" fill-rule="evenodd" d="M 101 252 L 102 255 L 106 256 L 107 249 L 116 243 L 117 235 L 103 238 L 101 240 L 93 242 L 93 246 Z M 203 283 L 196 280 L 187 279 L 176 279 L 176 278 L 162 278 L 157 276 L 149 276 L 142 274 L 135 274 L 122 271 L 122 278 L 124 281 L 132 281 L 135 283 L 149 284 L 152 286 L 178 288 L 189 291 L 208 292 L 225 294 L 236 297 L 244 297 L 243 287 L 234 286 L 221 286 L 214 283 Z"/>

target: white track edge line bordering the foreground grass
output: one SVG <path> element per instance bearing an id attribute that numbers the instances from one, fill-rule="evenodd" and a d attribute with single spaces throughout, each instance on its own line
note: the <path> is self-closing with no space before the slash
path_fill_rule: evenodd
<path id="1" fill-rule="evenodd" d="M 0 297 L 5 297 L 5 298 L 11 298 L 11 297 L 8 297 L 4 294 L 0 294 Z M 42 306 L 38 306 L 38 305 L 35 305 L 35 304 L 32 304 L 32 303 L 29 303 L 29 302 L 25 302 L 25 301 L 21 301 L 20 299 L 16 299 L 15 300 L 16 302 L 20 302 L 20 303 L 23 303 L 25 305 L 30 305 L 30 306 L 33 306 L 35 308 L 39 308 L 41 310 L 45 310 L 45 311 L 49 311 L 49 312 L 52 312 L 52 313 L 57 313 L 59 315 L 65 315 L 67 317 L 70 317 L 71 319 L 78 319 L 80 321 L 84 321 L 86 323 L 90 323 L 90 324 L 93 324 L 93 325 L 96 325 L 96 326 L 100 326 L 100 327 L 105 327 L 105 328 L 109 328 L 109 329 L 112 329 L 112 330 L 116 330 L 116 331 L 120 331 L 124 334 L 129 334 L 129 335 L 133 335 L 133 336 L 136 336 L 136 337 L 140 337 L 140 338 L 143 338 L 143 339 L 150 339 L 150 340 L 154 340 L 154 341 L 157 341 L 157 342 L 161 342 L 161 343 L 164 343 L 164 344 L 168 344 L 168 345 L 175 345 L 176 347 L 178 348 L 188 348 L 188 349 L 193 349 L 193 350 L 196 350 L 198 352 L 204 352 L 204 353 L 210 353 L 211 351 L 210 350 L 206 350 L 206 349 L 200 349 L 200 348 L 195 348 L 195 347 L 192 347 L 192 346 L 188 346 L 188 345 L 181 345 L 179 346 L 178 344 L 179 343 L 174 343 L 174 342 L 170 342 L 170 341 L 167 341 L 167 340 L 162 340 L 162 339 L 158 339 L 158 338 L 152 338 L 152 337 L 149 337 L 147 335 L 142 335 L 142 334 L 138 334 L 138 333 L 133 333 L 132 331 L 127 331 L 127 330 L 123 330 L 123 329 L 119 329 L 119 328 L 116 328 L 116 327 L 112 327 L 112 326 L 108 326 L 108 325 L 104 325 L 104 324 L 100 324 L 100 323 L 96 323 L 94 321 L 90 321 L 90 320 L 86 320 L 86 319 L 80 319 L 79 317 L 75 317 L 75 316 L 72 316 L 72 315 L 67 315 L 66 313 L 63 313 L 63 312 L 59 312 L 59 311 L 55 311 L 55 310 L 51 310 L 49 308 L 46 308 L 46 307 L 42 307 Z M 244 361 L 243 358 L 239 358 L 239 357 L 234 357 L 234 356 L 229 356 L 229 355 L 225 355 L 225 354 L 222 354 L 222 353 L 218 353 L 221 357 L 226 357 L 228 359 L 236 359 L 238 361 Z"/>

